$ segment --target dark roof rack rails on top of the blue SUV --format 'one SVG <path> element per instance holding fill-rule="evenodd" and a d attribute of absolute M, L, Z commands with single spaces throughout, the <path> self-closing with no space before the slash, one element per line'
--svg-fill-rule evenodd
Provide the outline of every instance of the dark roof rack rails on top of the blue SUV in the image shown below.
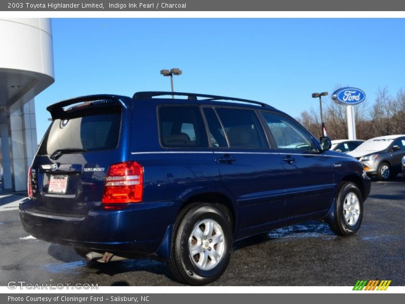
<path fill-rule="evenodd" d="M 217 95 L 207 95 L 207 94 L 197 94 L 197 93 L 182 93 L 182 92 L 137 92 L 132 98 L 134 99 L 151 99 L 155 96 L 164 96 L 164 95 L 176 95 L 176 96 L 187 96 L 188 100 L 198 100 L 198 101 L 220 101 L 220 100 L 232 100 L 232 101 L 241 101 L 261 105 L 263 107 L 271 107 L 270 105 L 249 99 L 241 99 L 234 97 L 225 97 Z M 197 97 L 205 97 L 205 99 L 197 99 Z"/>

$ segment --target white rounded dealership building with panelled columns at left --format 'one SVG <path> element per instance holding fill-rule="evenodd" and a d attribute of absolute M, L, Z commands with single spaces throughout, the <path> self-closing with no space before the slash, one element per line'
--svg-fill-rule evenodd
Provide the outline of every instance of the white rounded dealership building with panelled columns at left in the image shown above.
<path fill-rule="evenodd" d="M 37 148 L 34 97 L 54 82 L 51 20 L 0 18 L 0 188 L 24 191 Z"/>

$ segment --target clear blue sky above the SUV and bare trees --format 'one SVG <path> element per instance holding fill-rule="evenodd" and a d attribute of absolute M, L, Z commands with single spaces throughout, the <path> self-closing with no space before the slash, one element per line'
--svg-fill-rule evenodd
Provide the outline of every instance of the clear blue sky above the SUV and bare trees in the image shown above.
<path fill-rule="evenodd" d="M 404 86 L 405 19 L 53 19 L 55 83 L 35 98 L 38 141 L 46 106 L 88 94 L 170 91 L 254 99 L 299 117 L 311 93 L 339 86 L 396 94 Z M 330 97 L 328 97 L 330 98 Z"/>

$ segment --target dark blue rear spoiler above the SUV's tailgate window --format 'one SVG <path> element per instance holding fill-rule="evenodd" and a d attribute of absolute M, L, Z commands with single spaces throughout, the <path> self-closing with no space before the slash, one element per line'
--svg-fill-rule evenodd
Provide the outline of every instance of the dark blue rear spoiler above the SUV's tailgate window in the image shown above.
<path fill-rule="evenodd" d="M 98 104 L 98 102 L 100 103 L 114 102 L 120 104 L 123 108 L 128 108 L 128 104 L 124 102 L 125 99 L 131 100 L 131 98 L 126 96 L 109 95 L 109 94 L 80 96 L 51 104 L 47 107 L 47 110 L 51 113 L 52 120 L 55 120 L 57 118 L 63 117 L 64 113 L 66 113 L 66 110 L 64 108 L 71 104 L 82 103 L 78 104 L 78 106 L 86 106 L 91 104 Z"/>

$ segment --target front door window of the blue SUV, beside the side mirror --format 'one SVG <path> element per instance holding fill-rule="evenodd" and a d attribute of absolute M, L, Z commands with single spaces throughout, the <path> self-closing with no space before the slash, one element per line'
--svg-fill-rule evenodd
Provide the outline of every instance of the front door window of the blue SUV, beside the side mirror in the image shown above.
<path fill-rule="evenodd" d="M 312 138 L 284 116 L 262 112 L 279 149 L 316 150 Z"/>

